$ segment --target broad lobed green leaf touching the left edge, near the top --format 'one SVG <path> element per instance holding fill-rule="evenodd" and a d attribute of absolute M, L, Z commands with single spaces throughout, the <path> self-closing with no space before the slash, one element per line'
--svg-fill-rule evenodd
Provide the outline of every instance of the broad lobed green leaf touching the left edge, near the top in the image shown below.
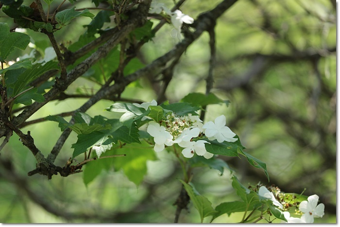
<path fill-rule="evenodd" d="M 0 58 L 5 60 L 15 48 L 25 50 L 30 43 L 30 36 L 18 33 L 9 32 L 7 23 L 0 23 Z"/>

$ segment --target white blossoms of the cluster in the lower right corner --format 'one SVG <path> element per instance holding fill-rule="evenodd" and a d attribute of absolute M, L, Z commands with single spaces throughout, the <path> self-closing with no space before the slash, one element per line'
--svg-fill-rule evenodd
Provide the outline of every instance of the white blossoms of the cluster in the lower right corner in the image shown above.
<path fill-rule="evenodd" d="M 262 197 L 272 200 L 272 204 L 283 210 L 283 206 L 275 199 L 275 196 L 266 187 L 261 186 L 258 190 L 258 194 Z M 324 215 L 324 204 L 318 205 L 319 196 L 311 195 L 307 198 L 307 201 L 302 201 L 299 205 L 299 210 L 303 213 L 301 218 L 290 217 L 288 211 L 284 211 L 283 214 L 287 219 L 287 223 L 313 223 L 314 218 L 321 218 Z"/>

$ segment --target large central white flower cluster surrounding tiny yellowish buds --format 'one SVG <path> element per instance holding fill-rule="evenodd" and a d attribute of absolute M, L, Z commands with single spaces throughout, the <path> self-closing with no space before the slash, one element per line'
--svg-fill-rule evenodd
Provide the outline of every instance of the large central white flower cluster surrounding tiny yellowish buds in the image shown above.
<path fill-rule="evenodd" d="M 153 100 L 149 103 L 134 105 L 147 110 L 149 106 L 157 105 L 157 102 Z M 163 151 L 165 146 L 172 146 L 176 143 L 184 148 L 182 150 L 184 157 L 190 158 L 196 153 L 199 156 L 211 158 L 214 155 L 207 152 L 204 145 L 204 143 L 209 142 L 198 139 L 205 134 L 209 140 L 217 140 L 218 142 L 235 142 L 238 140 L 237 138 L 233 138 L 236 134 L 224 125 L 224 115 L 217 117 L 215 122 L 203 124 L 196 115 L 188 114 L 188 116 L 177 116 L 172 113 L 160 122 L 149 122 L 147 132 L 153 137 L 155 143 L 153 149 L 155 152 Z"/>

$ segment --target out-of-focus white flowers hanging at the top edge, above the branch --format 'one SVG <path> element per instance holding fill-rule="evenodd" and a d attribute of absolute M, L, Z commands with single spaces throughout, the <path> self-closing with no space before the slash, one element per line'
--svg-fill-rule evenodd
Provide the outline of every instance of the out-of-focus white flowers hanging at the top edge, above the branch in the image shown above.
<path fill-rule="evenodd" d="M 178 39 L 181 39 L 181 28 L 183 23 L 192 24 L 194 22 L 194 19 L 183 14 L 180 10 L 175 10 L 174 12 L 171 12 L 171 10 L 166 7 L 164 3 L 158 3 L 156 0 L 153 0 L 150 5 L 151 9 L 149 10 L 149 13 L 151 14 L 160 14 L 162 11 L 170 16 L 171 23 L 174 27 L 174 29 L 171 31 L 172 37 L 178 37 Z"/>

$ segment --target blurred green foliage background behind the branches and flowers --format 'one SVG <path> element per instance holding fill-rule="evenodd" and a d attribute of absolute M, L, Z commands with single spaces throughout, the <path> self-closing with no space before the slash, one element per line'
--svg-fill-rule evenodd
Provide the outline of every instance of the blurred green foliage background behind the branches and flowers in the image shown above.
<path fill-rule="evenodd" d="M 159 0 L 169 7 L 172 0 Z M 214 8 L 219 0 L 187 0 L 183 13 L 197 18 Z M 55 0 L 51 8 L 60 3 Z M 93 7 L 89 0 L 77 1 L 77 8 Z M 96 14 L 97 11 L 91 11 Z M 14 26 L 0 12 L 0 21 Z M 79 18 L 58 31 L 58 42 L 75 42 L 90 18 Z M 157 21 L 154 20 L 154 25 Z M 107 25 L 109 26 L 109 24 Z M 105 25 L 104 25 L 105 27 Z M 138 56 L 148 64 L 168 52 L 177 38 L 170 36 L 167 24 Z M 230 100 L 225 105 L 209 105 L 205 122 L 224 114 L 227 126 L 240 137 L 245 151 L 267 164 L 271 181 L 245 158 L 221 157 L 236 170 L 244 184 L 275 184 L 283 192 L 317 194 L 325 205 L 323 218 L 315 223 L 336 223 L 336 6 L 335 0 L 238 0 L 218 19 L 214 88 L 218 97 Z M 27 33 L 46 40 L 43 34 Z M 34 35 L 35 36 L 34 36 Z M 181 57 L 165 99 L 178 102 L 190 92 L 205 92 L 209 67 L 209 36 L 203 34 Z M 29 53 L 32 49 L 27 48 Z M 17 53 L 22 54 L 22 53 Z M 13 56 L 15 59 L 16 56 Z M 80 87 L 98 89 L 82 77 L 67 93 Z M 160 85 L 152 75 L 132 84 L 123 98 L 150 102 L 157 100 Z M 29 120 L 74 110 L 86 99 L 53 101 Z M 119 114 L 105 112 L 112 101 L 102 100 L 87 114 L 108 118 Z M 69 118 L 66 118 L 69 120 Z M 61 134 L 57 123 L 41 122 L 23 128 L 31 131 L 36 146 L 47 156 Z M 71 133 L 55 164 L 63 166 L 71 157 Z M 2 142 L 2 139 L 1 139 Z M 27 176 L 35 168 L 35 159 L 15 135 L 1 151 L 0 222 L 1 223 L 172 223 L 173 206 L 182 179 L 180 166 L 171 153 L 157 153 L 149 161 L 144 182 L 136 187 L 122 172 L 102 172 L 87 187 L 83 174 L 68 177 Z M 7 166 L 6 166 L 7 165 Z M 6 168 L 5 168 L 6 166 Z M 8 171 L 12 170 L 12 171 Z M 197 168 L 193 183 L 213 207 L 221 201 L 235 200 L 231 175 L 225 170 Z M 306 189 L 306 190 L 305 190 Z M 305 190 L 305 191 L 304 191 Z M 198 212 L 190 204 L 182 211 L 180 223 L 199 223 Z M 235 223 L 243 214 L 226 214 L 214 223 Z M 209 222 L 206 218 L 204 222 Z M 275 222 L 275 221 L 274 221 Z"/>

